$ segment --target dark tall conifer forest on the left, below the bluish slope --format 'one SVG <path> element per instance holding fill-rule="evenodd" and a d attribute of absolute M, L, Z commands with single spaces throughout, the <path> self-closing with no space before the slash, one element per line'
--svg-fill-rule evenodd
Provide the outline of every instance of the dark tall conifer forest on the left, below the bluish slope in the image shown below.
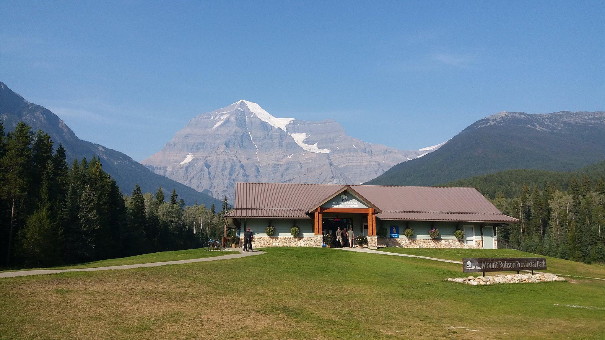
<path fill-rule="evenodd" d="M 62 145 L 24 122 L 0 122 L 0 254 L 7 267 L 47 267 L 201 247 L 221 212 L 187 206 L 173 189 L 123 195 L 96 156 L 67 165 Z"/>

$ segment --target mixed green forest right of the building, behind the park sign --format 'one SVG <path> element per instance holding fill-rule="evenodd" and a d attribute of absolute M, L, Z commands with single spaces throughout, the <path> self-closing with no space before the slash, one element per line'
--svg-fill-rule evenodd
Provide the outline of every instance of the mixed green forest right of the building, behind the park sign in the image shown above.
<path fill-rule="evenodd" d="M 520 220 L 498 227 L 499 240 L 551 257 L 605 263 L 603 177 L 590 178 L 584 174 L 579 180 L 572 176 L 564 185 L 555 182 L 547 178 L 540 189 L 535 183 L 530 187 L 517 178 L 518 190 L 509 193 L 518 191 L 518 194 L 499 191 L 494 197 L 488 195 L 500 211 Z M 473 186 L 472 178 L 466 183 Z"/>

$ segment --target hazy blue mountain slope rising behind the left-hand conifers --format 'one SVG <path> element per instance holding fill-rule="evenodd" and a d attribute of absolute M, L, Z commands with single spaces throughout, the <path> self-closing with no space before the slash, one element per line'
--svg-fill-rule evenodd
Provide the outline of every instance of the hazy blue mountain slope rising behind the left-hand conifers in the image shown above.
<path fill-rule="evenodd" d="M 32 127 L 32 131 L 42 129 L 47 132 L 55 147 L 59 146 L 59 143 L 64 146 L 67 162 L 70 164 L 73 159 L 80 160 L 82 157 L 87 157 L 90 160 L 93 155 L 97 155 L 103 169 L 116 180 L 124 194 L 130 194 L 136 183 L 139 183 L 143 192 L 155 192 L 159 186 L 167 192 L 174 188 L 189 205 L 198 201 L 199 204 L 206 204 L 206 206 L 211 204 L 221 206 L 219 200 L 155 174 L 122 152 L 79 139 L 56 114 L 44 106 L 28 102 L 2 82 L 0 82 L 0 120 L 7 131 L 13 130 L 17 123 L 23 121 Z"/>

